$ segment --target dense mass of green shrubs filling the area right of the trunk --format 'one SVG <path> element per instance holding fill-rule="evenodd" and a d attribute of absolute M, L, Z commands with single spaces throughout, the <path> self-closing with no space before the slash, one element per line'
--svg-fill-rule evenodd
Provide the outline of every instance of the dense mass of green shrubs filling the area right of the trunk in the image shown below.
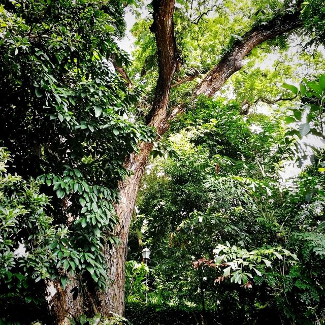
<path fill-rule="evenodd" d="M 204 299 L 228 317 L 237 310 L 233 323 L 269 312 L 301 324 L 320 319 L 323 154 L 282 184 L 284 160 L 296 159 L 299 125 L 282 124 L 291 115 L 242 116 L 222 99 L 196 104 L 172 125 L 177 156 L 156 161 L 138 199 L 129 242 L 152 251 L 151 301 L 191 309 Z"/>

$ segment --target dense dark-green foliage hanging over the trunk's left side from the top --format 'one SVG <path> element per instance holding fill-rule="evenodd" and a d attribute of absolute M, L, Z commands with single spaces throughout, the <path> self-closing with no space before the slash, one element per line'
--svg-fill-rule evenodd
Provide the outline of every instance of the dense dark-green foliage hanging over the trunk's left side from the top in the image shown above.
<path fill-rule="evenodd" d="M 43 182 L 59 225 L 57 238 L 49 239 L 49 261 L 31 274 L 38 280 L 60 274 L 63 287 L 75 271 L 101 288 L 107 284 L 103 245 L 116 243 L 109 234 L 117 221 L 117 182 L 127 176 L 124 159 L 139 141 L 155 137 L 131 122 L 140 91 L 128 90 L 112 68 L 112 59 L 129 64 L 116 44 L 123 11 L 115 0 L 0 6 L 0 114 L 10 171 Z M 36 236 L 33 227 L 26 246 Z"/>

